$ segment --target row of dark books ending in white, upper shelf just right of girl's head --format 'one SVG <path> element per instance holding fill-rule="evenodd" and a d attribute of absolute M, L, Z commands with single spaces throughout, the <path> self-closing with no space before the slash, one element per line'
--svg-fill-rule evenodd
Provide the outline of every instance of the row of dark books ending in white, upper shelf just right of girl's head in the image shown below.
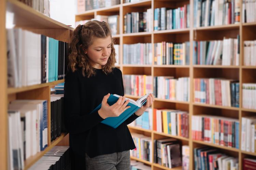
<path fill-rule="evenodd" d="M 124 15 L 124 33 L 151 32 L 152 10 L 131 12 Z"/>

